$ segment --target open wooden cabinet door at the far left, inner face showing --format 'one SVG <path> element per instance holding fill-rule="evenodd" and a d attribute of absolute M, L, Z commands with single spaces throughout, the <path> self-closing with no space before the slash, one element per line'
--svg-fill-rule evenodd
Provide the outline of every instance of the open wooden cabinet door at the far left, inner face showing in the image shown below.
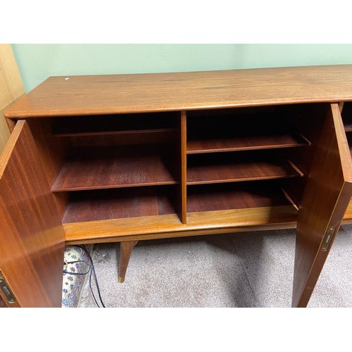
<path fill-rule="evenodd" d="M 61 307 L 64 231 L 25 120 L 0 156 L 0 294 L 7 306 Z"/>

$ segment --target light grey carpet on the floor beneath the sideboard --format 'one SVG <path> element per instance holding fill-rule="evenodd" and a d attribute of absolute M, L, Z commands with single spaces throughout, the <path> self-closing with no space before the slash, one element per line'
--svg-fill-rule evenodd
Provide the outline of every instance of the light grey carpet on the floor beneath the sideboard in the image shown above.
<path fill-rule="evenodd" d="M 118 246 L 95 245 L 92 258 L 106 307 L 285 308 L 291 306 L 295 234 L 139 241 L 123 284 Z M 96 307 L 88 282 L 79 307 Z M 352 225 L 341 227 L 308 307 L 352 307 Z"/>

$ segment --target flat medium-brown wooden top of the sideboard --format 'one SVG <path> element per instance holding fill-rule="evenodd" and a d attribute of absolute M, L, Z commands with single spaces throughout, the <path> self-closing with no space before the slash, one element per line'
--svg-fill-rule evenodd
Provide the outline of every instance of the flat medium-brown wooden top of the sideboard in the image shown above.
<path fill-rule="evenodd" d="M 352 101 L 352 65 L 49 77 L 7 118 Z"/>

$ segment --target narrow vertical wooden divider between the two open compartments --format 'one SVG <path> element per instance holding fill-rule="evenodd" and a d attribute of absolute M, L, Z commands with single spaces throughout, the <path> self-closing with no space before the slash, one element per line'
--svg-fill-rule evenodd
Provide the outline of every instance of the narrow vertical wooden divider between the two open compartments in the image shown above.
<path fill-rule="evenodd" d="M 187 224 L 187 112 L 181 111 L 181 221 Z"/>

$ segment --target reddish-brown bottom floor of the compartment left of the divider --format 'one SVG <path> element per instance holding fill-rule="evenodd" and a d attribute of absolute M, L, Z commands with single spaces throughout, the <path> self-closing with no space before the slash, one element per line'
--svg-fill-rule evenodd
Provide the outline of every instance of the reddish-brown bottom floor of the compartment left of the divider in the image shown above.
<path fill-rule="evenodd" d="M 172 186 L 76 191 L 63 223 L 168 215 L 175 213 L 174 201 Z"/>

